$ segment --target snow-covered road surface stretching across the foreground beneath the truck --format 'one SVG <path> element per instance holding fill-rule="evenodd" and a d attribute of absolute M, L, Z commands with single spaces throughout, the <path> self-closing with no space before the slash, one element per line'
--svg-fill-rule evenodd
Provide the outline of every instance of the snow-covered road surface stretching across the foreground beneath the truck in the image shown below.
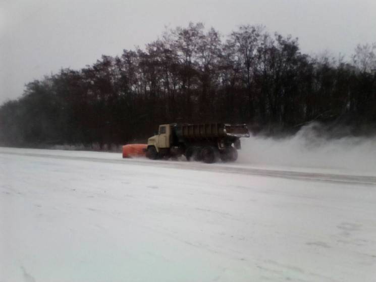
<path fill-rule="evenodd" d="M 0 148 L 0 281 L 375 281 L 375 179 Z"/>

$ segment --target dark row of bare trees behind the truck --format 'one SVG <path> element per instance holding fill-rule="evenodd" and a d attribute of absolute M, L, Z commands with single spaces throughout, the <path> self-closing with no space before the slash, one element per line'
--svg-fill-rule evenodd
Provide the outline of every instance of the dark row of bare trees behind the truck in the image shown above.
<path fill-rule="evenodd" d="M 222 37 L 202 23 L 145 48 L 29 82 L 0 107 L 0 144 L 125 144 L 164 123 L 376 122 L 376 45 L 350 61 L 302 53 L 297 38 L 244 25 Z"/>

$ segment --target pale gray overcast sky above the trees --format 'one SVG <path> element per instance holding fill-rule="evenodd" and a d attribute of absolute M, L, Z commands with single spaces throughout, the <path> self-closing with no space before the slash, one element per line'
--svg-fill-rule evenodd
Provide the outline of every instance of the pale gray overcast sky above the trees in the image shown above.
<path fill-rule="evenodd" d="M 263 24 L 299 37 L 307 53 L 350 55 L 376 42 L 376 0 L 0 0 L 0 104 L 27 82 L 143 47 L 189 21 L 224 35 Z"/>

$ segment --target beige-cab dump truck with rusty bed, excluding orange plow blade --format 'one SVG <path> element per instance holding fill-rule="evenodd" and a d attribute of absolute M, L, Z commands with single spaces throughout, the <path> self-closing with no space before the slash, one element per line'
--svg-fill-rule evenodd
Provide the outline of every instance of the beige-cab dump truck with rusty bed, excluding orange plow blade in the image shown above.
<path fill-rule="evenodd" d="M 213 163 L 219 159 L 235 161 L 241 148 L 240 138 L 249 137 L 245 124 L 166 124 L 147 140 L 150 159 L 185 155 L 188 161 Z"/>

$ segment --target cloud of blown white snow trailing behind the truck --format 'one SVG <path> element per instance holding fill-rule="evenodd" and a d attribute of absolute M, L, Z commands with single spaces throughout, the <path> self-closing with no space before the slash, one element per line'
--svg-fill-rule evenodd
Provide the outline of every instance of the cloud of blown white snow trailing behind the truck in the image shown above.
<path fill-rule="evenodd" d="M 339 132 L 328 134 L 320 125 L 313 123 L 290 137 L 257 135 L 243 139 L 238 162 L 374 173 L 376 137 L 343 137 Z"/>

